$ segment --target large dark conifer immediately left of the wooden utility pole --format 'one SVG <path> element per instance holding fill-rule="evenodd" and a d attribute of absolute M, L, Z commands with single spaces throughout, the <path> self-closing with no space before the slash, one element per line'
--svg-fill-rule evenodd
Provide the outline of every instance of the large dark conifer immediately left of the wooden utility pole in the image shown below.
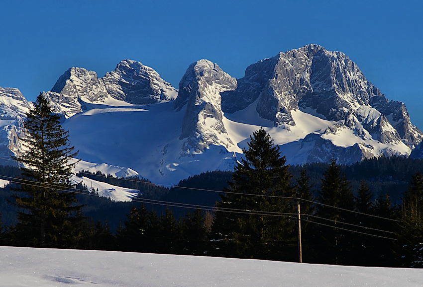
<path fill-rule="evenodd" d="M 225 195 L 216 204 L 212 236 L 221 256 L 297 259 L 295 209 L 285 156 L 264 129 L 250 136 Z M 278 215 L 278 216 L 272 216 Z"/>

